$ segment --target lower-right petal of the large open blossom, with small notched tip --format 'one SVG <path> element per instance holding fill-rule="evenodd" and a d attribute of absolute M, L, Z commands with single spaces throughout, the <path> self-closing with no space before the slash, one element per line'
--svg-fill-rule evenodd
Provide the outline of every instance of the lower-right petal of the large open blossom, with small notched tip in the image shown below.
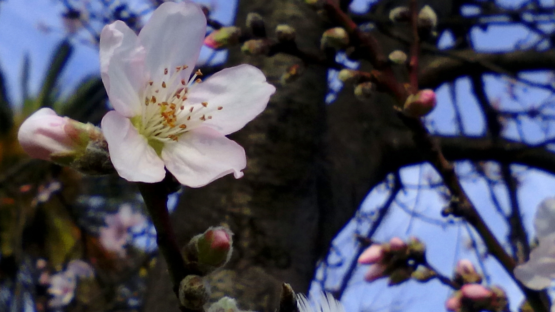
<path fill-rule="evenodd" d="M 196 128 L 185 132 L 177 142 L 162 149 L 166 168 L 179 183 L 202 187 L 226 174 L 243 177 L 245 150 L 214 129 Z"/>

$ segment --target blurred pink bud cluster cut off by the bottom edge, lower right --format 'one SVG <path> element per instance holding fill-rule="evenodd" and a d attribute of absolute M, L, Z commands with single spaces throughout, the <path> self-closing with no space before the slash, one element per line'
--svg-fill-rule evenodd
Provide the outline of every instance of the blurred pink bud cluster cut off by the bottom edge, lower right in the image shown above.
<path fill-rule="evenodd" d="M 501 312 L 507 310 L 507 304 L 507 295 L 497 286 L 465 284 L 447 299 L 445 308 L 452 312 Z"/>

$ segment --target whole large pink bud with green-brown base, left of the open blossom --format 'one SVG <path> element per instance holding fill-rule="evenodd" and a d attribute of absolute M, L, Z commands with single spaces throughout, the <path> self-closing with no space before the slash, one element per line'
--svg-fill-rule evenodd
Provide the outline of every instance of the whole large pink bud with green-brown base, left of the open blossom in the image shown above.
<path fill-rule="evenodd" d="M 88 174 L 114 172 L 100 128 L 41 108 L 19 127 L 19 144 L 29 156 Z"/>

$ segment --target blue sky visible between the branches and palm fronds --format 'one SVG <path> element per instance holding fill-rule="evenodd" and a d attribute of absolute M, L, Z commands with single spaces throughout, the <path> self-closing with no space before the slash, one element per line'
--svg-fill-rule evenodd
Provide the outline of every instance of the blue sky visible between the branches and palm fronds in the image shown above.
<path fill-rule="evenodd" d="M 372 1 L 355 0 L 352 9 L 364 11 Z M 517 7 L 524 1 L 501 1 L 503 6 Z M 541 1 L 542 4 L 554 6 L 554 1 Z M 224 24 L 231 24 L 235 8 L 234 1 L 205 1 L 213 7 L 214 18 Z M 32 2 L 22 2 L 18 0 L 0 1 L 0 67 L 7 78 L 8 92 L 12 103 L 21 103 L 21 90 L 19 89 L 19 79 L 24 54 L 28 53 L 31 59 L 31 93 L 36 94 L 41 79 L 46 70 L 46 66 L 51 58 L 52 49 L 64 38 L 63 24 L 59 18 L 63 12 L 63 7 L 56 0 L 33 0 Z M 546 28 L 552 28 L 553 24 Z M 451 44 L 448 33 L 442 34 L 440 47 L 448 48 Z M 480 28 L 472 29 L 471 36 L 476 49 L 483 52 L 503 52 L 511 51 L 516 43 L 534 42 L 537 37 L 529 33 L 522 27 L 501 27 L 495 26 L 483 31 Z M 210 51 L 205 49 L 203 57 L 208 57 Z M 225 57 L 225 53 L 219 56 Z M 68 67 L 63 73 L 60 85 L 62 90 L 68 92 L 80 79 L 90 74 L 98 74 L 98 51 L 93 44 L 75 44 L 73 57 L 70 59 Z M 528 73 L 528 79 L 549 80 L 552 74 L 549 73 Z M 552 95 L 535 88 L 525 88 L 521 84 L 514 85 L 505 78 L 486 76 L 486 90 L 490 100 L 498 100 L 503 109 L 518 109 L 522 105 L 526 107 L 539 105 L 550 100 Z M 478 109 L 476 100 L 470 96 L 470 82 L 467 78 L 457 79 L 454 83 L 456 99 L 460 105 L 465 107 L 463 114 L 463 124 L 467 134 L 480 135 L 485 127 L 481 112 Z M 516 90 L 517 98 L 513 99 L 508 95 L 508 89 Z M 436 110 L 427 117 L 430 127 L 437 133 L 455 134 L 453 118 L 454 111 L 451 103 L 450 86 L 445 84 L 437 89 L 438 106 Z M 538 142 L 544 138 L 545 132 L 539 128 L 538 122 L 534 120 L 523 120 L 525 140 L 529 143 Z M 548 129 L 547 133 L 553 133 Z M 509 138 L 517 138 L 518 132 L 515 124 L 507 124 L 504 132 Z M 492 172 L 495 172 L 495 165 L 490 165 Z M 519 202 L 523 209 L 523 218 L 529 233 L 533 233 L 532 220 L 537 204 L 542 199 L 553 196 L 555 189 L 555 179 L 548 174 L 537 170 L 524 170 L 522 167 L 513 166 L 519 172 L 521 186 L 518 190 Z M 506 236 L 507 229 L 504 227 L 499 214 L 495 212 L 491 199 L 486 192 L 485 181 L 471 173 L 471 166 L 468 163 L 457 164 L 457 171 L 463 178 L 463 187 L 467 190 L 473 202 L 476 204 L 480 213 L 488 220 L 488 224 L 500 238 Z M 416 165 L 403 168 L 401 172 L 403 183 L 426 184 L 427 180 L 438 180 L 437 174 L 427 164 Z M 499 195 L 504 208 L 508 209 L 506 200 L 506 189 L 498 185 L 495 192 Z M 371 212 L 380 207 L 387 196 L 385 185 L 372 190 L 369 197 L 362 205 L 362 212 Z M 443 220 L 440 217 L 440 210 L 443 207 L 443 200 L 435 190 L 421 190 L 417 195 L 416 190 L 409 189 L 403 192 L 398 201 L 404 203 L 415 212 L 426 215 L 432 220 Z M 443 274 L 451 275 L 453 265 L 457 259 L 462 257 L 475 260 L 473 251 L 465 248 L 466 242 L 470 239 L 467 228 L 461 224 L 445 224 L 445 226 L 430 224 L 416 218 L 411 218 L 396 204 L 392 209 L 386 222 L 382 224 L 376 233 L 377 240 L 387 240 L 392 236 L 407 238 L 410 235 L 417 235 L 428 244 L 428 255 L 430 262 L 436 266 Z M 455 220 L 452 220 L 455 221 Z M 366 227 L 366 228 L 365 228 Z M 365 233 L 367 225 L 352 222 L 345 228 L 336 239 L 337 245 L 354 244 L 353 233 L 359 230 Z M 438 239 L 441 238 L 441 239 Z M 342 249 L 342 257 L 348 258 L 352 254 L 352 249 Z M 337 258 L 337 257 L 336 257 Z M 333 259 L 332 259 L 333 260 Z M 337 259 L 335 259 L 337 260 Z M 511 297 L 511 309 L 516 310 L 522 296 L 516 286 L 503 272 L 495 260 L 491 257 L 484 261 L 487 271 L 492 276 L 493 284 L 501 284 L 508 291 Z M 415 285 L 409 282 L 400 286 L 387 288 L 385 280 L 369 284 L 362 279 L 366 267 L 361 266 L 357 269 L 354 278 L 351 280 L 350 288 L 344 296 L 344 304 L 347 312 L 359 310 L 391 310 L 395 307 L 403 311 L 428 311 L 444 310 L 443 303 L 447 299 L 450 290 L 440 285 L 437 281 L 427 284 Z M 336 276 L 341 269 L 336 270 Z M 337 278 L 330 278 L 329 286 L 333 286 Z M 428 300 L 422 294 L 432 294 L 433 300 Z"/>

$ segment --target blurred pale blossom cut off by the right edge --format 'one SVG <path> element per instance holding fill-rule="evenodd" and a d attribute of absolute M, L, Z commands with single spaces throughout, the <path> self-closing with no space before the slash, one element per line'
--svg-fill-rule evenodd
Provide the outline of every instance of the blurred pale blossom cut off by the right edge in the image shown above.
<path fill-rule="evenodd" d="M 514 269 L 514 276 L 528 288 L 541 290 L 555 279 L 555 198 L 539 204 L 534 219 L 539 245 L 530 253 L 530 259 Z"/>

